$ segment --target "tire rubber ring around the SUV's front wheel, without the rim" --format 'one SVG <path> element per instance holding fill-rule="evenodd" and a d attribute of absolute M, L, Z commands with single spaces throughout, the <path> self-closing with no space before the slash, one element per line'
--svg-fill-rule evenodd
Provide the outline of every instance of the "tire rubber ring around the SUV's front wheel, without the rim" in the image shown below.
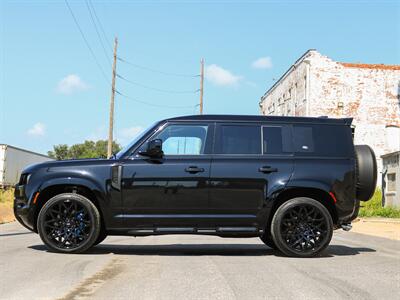
<path fill-rule="evenodd" d="M 53 242 L 51 239 L 47 237 L 47 234 L 45 232 L 44 228 L 44 220 L 47 211 L 57 202 L 62 202 L 65 200 L 73 200 L 79 202 L 81 205 L 83 205 L 86 210 L 88 211 L 90 215 L 90 219 L 92 222 L 92 227 L 90 229 L 89 233 L 89 238 L 84 241 L 81 245 L 79 245 L 76 248 L 73 249 L 64 249 L 64 248 L 59 248 L 53 245 Z M 89 249 L 90 247 L 93 246 L 95 241 L 97 240 L 99 234 L 100 234 L 100 227 L 101 227 L 101 222 L 100 222 L 100 214 L 96 206 L 86 197 L 75 194 L 75 193 L 64 193 L 64 194 L 59 194 L 48 200 L 42 207 L 42 209 L 39 212 L 38 219 L 37 219 L 37 228 L 38 232 L 40 235 L 40 238 L 42 241 L 45 243 L 45 245 L 53 252 L 62 252 L 62 253 L 81 253 Z"/>

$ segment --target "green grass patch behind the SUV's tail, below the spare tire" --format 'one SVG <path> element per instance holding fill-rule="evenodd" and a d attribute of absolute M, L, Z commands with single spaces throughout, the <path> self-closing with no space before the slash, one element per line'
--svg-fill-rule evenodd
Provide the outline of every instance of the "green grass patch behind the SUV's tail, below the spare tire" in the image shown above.
<path fill-rule="evenodd" d="M 400 218 L 400 209 L 382 207 L 382 191 L 377 189 L 371 200 L 361 202 L 359 217 Z"/>

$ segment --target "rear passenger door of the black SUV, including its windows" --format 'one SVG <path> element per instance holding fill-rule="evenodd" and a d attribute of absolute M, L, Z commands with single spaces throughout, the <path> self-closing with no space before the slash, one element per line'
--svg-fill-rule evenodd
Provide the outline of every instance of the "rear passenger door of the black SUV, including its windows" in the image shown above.
<path fill-rule="evenodd" d="M 292 173 L 290 134 L 289 126 L 276 124 L 217 124 L 210 173 L 216 226 L 263 223 L 271 193 L 283 188 Z"/>

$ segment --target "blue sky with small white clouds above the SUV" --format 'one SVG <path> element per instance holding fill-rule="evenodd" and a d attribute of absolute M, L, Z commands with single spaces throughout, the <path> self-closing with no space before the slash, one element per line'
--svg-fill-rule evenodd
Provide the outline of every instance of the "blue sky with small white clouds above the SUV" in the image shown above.
<path fill-rule="evenodd" d="M 69 0 L 106 79 L 64 1 L 1 1 L 0 143 L 47 152 L 54 144 L 106 138 L 111 65 L 86 3 Z M 400 63 L 397 1 L 95 1 L 118 55 L 170 73 L 199 73 L 204 111 L 259 114 L 262 94 L 307 49 L 334 60 Z M 99 29 L 102 36 L 101 29 Z M 163 90 L 195 91 L 198 77 L 166 76 L 118 61 L 117 72 Z M 198 112 L 198 93 L 172 94 L 117 79 L 115 136 L 126 144 L 156 120 Z"/>

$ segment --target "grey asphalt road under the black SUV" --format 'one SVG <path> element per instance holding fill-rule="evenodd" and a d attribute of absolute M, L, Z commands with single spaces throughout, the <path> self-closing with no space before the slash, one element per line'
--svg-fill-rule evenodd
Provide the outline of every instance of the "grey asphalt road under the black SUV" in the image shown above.
<path fill-rule="evenodd" d="M 321 257 L 259 239 L 108 237 L 87 254 L 47 252 L 0 225 L 0 299 L 400 299 L 400 241 L 337 231 Z"/>

